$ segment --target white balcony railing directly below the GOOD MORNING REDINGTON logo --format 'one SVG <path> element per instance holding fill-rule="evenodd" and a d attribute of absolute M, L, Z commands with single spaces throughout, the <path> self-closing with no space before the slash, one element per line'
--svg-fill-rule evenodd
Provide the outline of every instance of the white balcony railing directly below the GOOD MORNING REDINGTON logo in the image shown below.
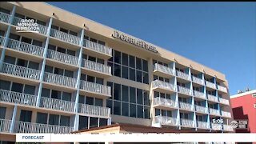
<path fill-rule="evenodd" d="M 14 39 L 9 39 L 7 47 L 13 50 L 22 51 L 28 54 L 34 54 L 42 57 L 43 54 L 43 47 L 34 46 L 26 42 L 20 42 Z"/>

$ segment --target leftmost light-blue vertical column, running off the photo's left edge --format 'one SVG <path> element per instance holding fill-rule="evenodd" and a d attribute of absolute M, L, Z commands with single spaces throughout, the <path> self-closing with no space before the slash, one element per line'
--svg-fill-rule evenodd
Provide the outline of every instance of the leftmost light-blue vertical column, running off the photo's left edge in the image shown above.
<path fill-rule="evenodd" d="M 10 23 L 13 23 L 13 22 L 14 22 L 14 14 L 15 14 L 15 11 L 16 11 L 16 6 L 14 6 L 14 7 L 13 7 L 13 10 L 11 11 L 11 14 L 10 14 Z M 4 44 L 3 44 L 2 54 L 1 54 L 1 58 L 0 58 L 0 71 L 2 71 L 2 64 L 3 64 L 3 61 L 4 61 L 5 56 L 6 56 L 6 47 L 7 47 L 7 44 L 8 44 L 9 37 L 10 37 L 10 29 L 11 29 L 11 26 L 9 25 L 9 26 L 7 27 L 7 30 L 6 30 L 5 42 L 4 42 Z"/>

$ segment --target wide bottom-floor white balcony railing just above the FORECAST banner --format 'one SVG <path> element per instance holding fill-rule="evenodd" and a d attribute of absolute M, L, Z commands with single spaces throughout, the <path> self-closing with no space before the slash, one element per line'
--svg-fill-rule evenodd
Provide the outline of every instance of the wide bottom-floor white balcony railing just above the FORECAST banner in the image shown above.
<path fill-rule="evenodd" d="M 32 122 L 15 122 L 14 133 L 54 133 L 69 134 L 73 130 L 70 126 L 55 126 Z"/>

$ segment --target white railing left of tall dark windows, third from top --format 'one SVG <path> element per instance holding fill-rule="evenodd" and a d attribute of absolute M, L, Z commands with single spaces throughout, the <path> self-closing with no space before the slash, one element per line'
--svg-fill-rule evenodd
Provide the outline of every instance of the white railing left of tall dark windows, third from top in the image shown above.
<path fill-rule="evenodd" d="M 110 86 L 105 86 L 94 82 L 81 81 L 80 89 L 96 94 L 111 95 Z"/>

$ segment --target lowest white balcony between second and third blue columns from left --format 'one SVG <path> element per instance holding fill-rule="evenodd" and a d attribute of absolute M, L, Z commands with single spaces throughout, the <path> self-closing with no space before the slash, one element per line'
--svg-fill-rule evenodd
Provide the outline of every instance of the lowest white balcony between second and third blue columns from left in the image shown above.
<path fill-rule="evenodd" d="M 40 107 L 51 110 L 74 112 L 74 102 L 64 101 L 55 98 L 42 97 Z"/>

